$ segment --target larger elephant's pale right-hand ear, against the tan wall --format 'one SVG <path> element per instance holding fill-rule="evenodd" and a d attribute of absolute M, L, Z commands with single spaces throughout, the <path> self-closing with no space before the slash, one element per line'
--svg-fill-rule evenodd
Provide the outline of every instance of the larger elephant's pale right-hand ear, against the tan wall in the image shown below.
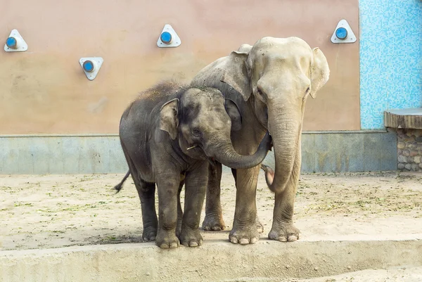
<path fill-rule="evenodd" d="M 314 60 L 311 68 L 311 96 L 316 97 L 316 91 L 321 89 L 330 77 L 330 68 L 324 53 L 318 47 L 312 49 Z"/>

